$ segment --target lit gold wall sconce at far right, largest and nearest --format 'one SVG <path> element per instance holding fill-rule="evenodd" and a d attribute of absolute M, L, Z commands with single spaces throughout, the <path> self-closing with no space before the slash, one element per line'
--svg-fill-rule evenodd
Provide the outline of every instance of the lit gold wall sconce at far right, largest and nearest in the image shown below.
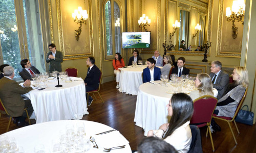
<path fill-rule="evenodd" d="M 238 36 L 238 28 L 234 25 L 234 21 L 242 22 L 244 24 L 244 0 L 233 1 L 232 12 L 230 7 L 226 8 L 226 19 L 232 22 L 232 37 L 236 39 Z"/>

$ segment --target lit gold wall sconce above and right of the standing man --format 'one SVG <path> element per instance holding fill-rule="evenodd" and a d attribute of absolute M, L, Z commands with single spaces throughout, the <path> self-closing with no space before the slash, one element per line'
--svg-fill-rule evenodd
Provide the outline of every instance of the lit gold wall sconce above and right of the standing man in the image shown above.
<path fill-rule="evenodd" d="M 78 10 L 72 13 L 72 17 L 74 18 L 74 22 L 80 24 L 80 27 L 75 30 L 76 40 L 78 41 L 82 32 L 82 23 L 86 24 L 86 20 L 88 19 L 87 10 L 82 10 L 82 7 L 78 7 Z"/>

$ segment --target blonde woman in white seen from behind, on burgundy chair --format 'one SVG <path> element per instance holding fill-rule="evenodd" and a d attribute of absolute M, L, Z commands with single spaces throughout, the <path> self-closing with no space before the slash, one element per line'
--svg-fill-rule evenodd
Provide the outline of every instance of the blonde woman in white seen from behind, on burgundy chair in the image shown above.
<path fill-rule="evenodd" d="M 194 90 L 189 94 L 192 100 L 195 100 L 196 98 L 199 98 L 204 95 L 211 95 L 217 97 L 218 91 L 217 89 L 212 87 L 210 75 L 206 73 L 197 74 L 195 84 L 197 90 Z"/>

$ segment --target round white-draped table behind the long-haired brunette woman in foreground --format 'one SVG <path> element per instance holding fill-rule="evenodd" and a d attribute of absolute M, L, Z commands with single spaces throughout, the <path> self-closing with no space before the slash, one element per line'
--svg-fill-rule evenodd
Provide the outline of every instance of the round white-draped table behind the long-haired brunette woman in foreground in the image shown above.
<path fill-rule="evenodd" d="M 161 81 L 155 81 L 155 83 L 161 84 Z M 167 84 L 167 86 L 160 84 L 148 82 L 139 87 L 134 122 L 143 128 L 145 136 L 148 131 L 159 129 L 160 125 L 168 122 L 166 105 L 173 93 L 181 90 L 171 84 Z"/>

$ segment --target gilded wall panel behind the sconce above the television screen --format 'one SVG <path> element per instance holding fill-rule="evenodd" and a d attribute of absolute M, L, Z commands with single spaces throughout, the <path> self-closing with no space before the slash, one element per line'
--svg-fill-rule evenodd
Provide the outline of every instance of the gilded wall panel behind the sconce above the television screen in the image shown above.
<path fill-rule="evenodd" d="M 152 31 L 151 33 L 151 47 L 150 48 L 142 48 L 140 54 L 152 54 L 155 50 L 160 51 L 160 26 L 161 26 L 161 0 L 150 1 L 154 4 L 146 3 L 146 1 L 140 1 L 140 16 L 146 14 L 149 19 L 151 19 L 150 27 L 146 27 L 148 31 Z M 155 10 L 155 12 L 153 12 Z M 154 22 L 154 20 L 156 22 Z M 138 22 L 137 22 L 138 24 Z M 142 29 L 140 28 L 140 31 Z M 157 31 L 157 33 L 155 33 Z"/>

